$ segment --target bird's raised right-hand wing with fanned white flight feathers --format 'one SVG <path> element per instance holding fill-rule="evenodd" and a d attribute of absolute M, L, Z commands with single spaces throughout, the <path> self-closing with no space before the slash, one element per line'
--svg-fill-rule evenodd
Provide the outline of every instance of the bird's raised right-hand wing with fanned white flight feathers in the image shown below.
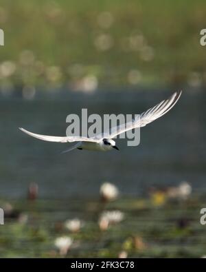
<path fill-rule="evenodd" d="M 130 129 L 135 129 L 137 127 L 144 127 L 148 123 L 155 121 L 157 118 L 163 116 L 169 112 L 172 107 L 176 104 L 181 96 L 182 91 L 175 92 L 170 96 L 170 98 L 161 101 L 155 107 L 151 107 L 146 112 L 139 114 L 133 121 L 119 125 L 117 127 L 112 127 L 109 132 L 104 133 L 103 138 L 115 138 L 115 136 L 127 132 Z"/>

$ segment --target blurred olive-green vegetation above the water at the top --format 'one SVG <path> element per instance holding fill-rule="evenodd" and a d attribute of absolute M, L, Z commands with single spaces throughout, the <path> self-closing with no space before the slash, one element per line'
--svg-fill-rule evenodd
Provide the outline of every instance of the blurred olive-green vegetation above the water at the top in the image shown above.
<path fill-rule="evenodd" d="M 205 9 L 204 0 L 1 0 L 0 61 L 10 61 L 1 85 L 204 84 Z"/>

